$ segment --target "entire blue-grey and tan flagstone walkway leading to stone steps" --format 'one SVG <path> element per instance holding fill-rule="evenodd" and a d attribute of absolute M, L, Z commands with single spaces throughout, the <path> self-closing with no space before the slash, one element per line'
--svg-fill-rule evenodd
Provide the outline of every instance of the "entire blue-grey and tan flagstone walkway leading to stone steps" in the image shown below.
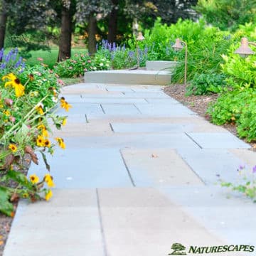
<path fill-rule="evenodd" d="M 161 256 L 176 242 L 187 253 L 256 247 L 255 205 L 216 184 L 255 165 L 249 145 L 160 86 L 87 83 L 62 93 L 73 108 L 54 130 L 67 149 L 49 158 L 53 198 L 19 203 L 4 256 Z M 46 174 L 42 161 L 33 173 Z"/>

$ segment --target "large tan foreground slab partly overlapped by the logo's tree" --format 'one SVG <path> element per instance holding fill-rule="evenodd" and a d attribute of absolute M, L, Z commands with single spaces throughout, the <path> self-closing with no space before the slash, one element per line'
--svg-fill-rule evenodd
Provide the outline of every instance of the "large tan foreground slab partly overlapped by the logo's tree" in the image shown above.
<path fill-rule="evenodd" d="M 100 189 L 99 198 L 107 255 L 168 255 L 174 242 L 224 244 L 155 188 Z"/>

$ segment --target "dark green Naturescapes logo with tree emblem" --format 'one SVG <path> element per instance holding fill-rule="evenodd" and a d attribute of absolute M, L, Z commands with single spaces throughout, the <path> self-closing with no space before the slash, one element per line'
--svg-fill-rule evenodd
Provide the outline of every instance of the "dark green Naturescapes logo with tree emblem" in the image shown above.
<path fill-rule="evenodd" d="M 171 245 L 173 252 L 169 255 L 187 255 L 191 254 L 202 254 L 202 253 L 215 253 L 215 252 L 254 252 L 255 246 L 253 245 L 218 245 L 209 247 L 198 247 L 191 245 L 186 251 L 186 247 L 176 242 Z"/>

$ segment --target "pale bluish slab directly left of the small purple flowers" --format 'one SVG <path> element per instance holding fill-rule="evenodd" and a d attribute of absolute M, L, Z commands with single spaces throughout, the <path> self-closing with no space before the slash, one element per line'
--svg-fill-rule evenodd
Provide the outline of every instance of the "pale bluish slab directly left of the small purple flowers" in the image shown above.
<path fill-rule="evenodd" d="M 207 184 L 235 182 L 242 161 L 226 149 L 178 149 L 182 159 Z"/>

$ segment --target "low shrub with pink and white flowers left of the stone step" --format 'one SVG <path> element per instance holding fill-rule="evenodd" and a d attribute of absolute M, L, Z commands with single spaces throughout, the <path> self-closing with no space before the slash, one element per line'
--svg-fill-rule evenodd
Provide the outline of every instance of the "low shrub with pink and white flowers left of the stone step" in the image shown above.
<path fill-rule="evenodd" d="M 86 71 L 108 69 L 110 69 L 110 60 L 105 56 L 95 55 L 95 58 L 91 58 L 87 53 L 76 53 L 74 57 L 58 63 L 54 72 L 63 78 L 76 78 Z"/>

